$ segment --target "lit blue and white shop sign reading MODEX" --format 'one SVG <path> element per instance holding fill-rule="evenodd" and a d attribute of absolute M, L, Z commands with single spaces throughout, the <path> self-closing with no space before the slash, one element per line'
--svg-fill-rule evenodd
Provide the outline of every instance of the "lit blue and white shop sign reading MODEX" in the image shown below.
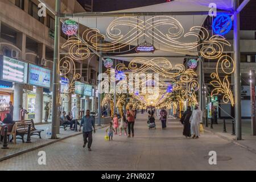
<path fill-rule="evenodd" d="M 51 70 L 30 64 L 28 84 L 50 88 Z"/>

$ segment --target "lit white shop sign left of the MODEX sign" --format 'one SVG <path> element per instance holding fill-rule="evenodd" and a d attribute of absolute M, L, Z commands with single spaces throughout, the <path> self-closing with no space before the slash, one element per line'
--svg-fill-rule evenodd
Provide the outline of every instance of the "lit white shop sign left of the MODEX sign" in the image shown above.
<path fill-rule="evenodd" d="M 27 63 L 10 57 L 0 56 L 0 65 L 0 78 L 2 80 L 27 83 Z"/>

